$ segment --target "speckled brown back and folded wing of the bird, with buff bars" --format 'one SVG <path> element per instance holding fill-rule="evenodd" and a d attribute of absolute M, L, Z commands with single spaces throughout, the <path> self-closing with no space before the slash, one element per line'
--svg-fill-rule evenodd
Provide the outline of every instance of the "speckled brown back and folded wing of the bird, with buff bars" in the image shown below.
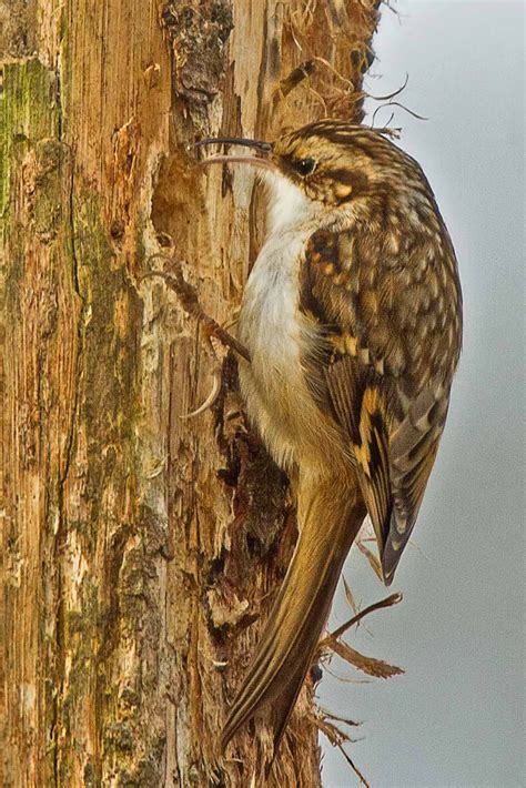
<path fill-rule="evenodd" d="M 325 380 L 320 405 L 348 435 L 393 579 L 444 428 L 462 333 L 456 262 L 445 229 L 392 234 L 315 233 L 306 249 L 302 309 L 323 327 L 310 360 Z"/>

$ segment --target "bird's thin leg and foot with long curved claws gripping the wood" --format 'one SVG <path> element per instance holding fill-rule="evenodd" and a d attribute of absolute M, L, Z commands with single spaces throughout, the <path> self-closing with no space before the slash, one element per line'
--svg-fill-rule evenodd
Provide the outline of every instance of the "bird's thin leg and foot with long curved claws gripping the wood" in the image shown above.
<path fill-rule="evenodd" d="M 204 413 L 209 407 L 212 407 L 214 402 L 218 398 L 218 395 L 221 391 L 221 370 L 222 370 L 222 362 L 218 357 L 218 353 L 215 352 L 215 347 L 213 344 L 213 341 L 216 340 L 219 341 L 222 345 L 225 347 L 229 347 L 230 350 L 233 350 L 235 353 L 241 355 L 245 361 L 250 363 L 251 357 L 250 353 L 246 350 L 246 347 L 239 342 L 239 340 L 235 339 L 235 336 L 232 336 L 232 334 L 229 334 L 225 327 L 220 325 L 213 317 L 210 317 L 204 310 L 202 309 L 201 304 L 199 303 L 198 294 L 195 292 L 195 287 L 193 287 L 189 282 L 183 276 L 183 272 L 181 270 L 181 263 L 173 257 L 170 257 L 166 254 L 158 253 L 158 254 L 152 254 L 149 259 L 148 262 L 150 263 L 152 260 L 164 260 L 168 261 L 171 265 L 171 273 L 166 273 L 165 271 L 146 271 L 141 275 L 140 279 L 148 279 L 148 277 L 160 277 L 164 280 L 166 285 L 172 290 L 179 297 L 179 301 L 181 303 L 181 306 L 183 310 L 186 312 L 186 314 L 191 315 L 192 317 L 195 317 L 198 320 L 204 332 L 204 340 L 205 343 L 209 347 L 209 350 L 212 353 L 212 356 L 214 358 L 214 370 L 213 370 L 213 386 L 212 391 L 210 392 L 209 396 L 206 400 L 203 402 L 202 405 L 198 407 L 196 411 L 192 411 L 192 413 L 183 414 L 181 418 L 192 418 L 193 416 L 198 416 L 201 413 Z M 237 321 L 230 321 L 226 325 L 227 327 L 234 325 Z"/>

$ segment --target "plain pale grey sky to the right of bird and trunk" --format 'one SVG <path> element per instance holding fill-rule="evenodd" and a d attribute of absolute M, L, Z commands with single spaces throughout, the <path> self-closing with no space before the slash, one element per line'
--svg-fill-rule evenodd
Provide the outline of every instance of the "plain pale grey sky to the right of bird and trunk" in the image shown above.
<path fill-rule="evenodd" d="M 523 2 L 401 0 L 383 10 L 373 94 L 407 88 L 399 144 L 423 165 L 453 236 L 465 337 L 446 434 L 393 590 L 350 643 L 405 668 L 388 683 L 327 676 L 321 703 L 363 721 L 350 754 L 372 788 L 515 788 L 524 768 Z M 377 104 L 371 103 L 373 109 Z M 376 125 L 390 111 L 378 113 Z M 345 577 L 385 595 L 365 560 Z M 332 624 L 348 617 L 338 594 Z M 362 679 L 333 659 L 340 677 Z M 354 786 L 325 748 L 325 788 Z"/>

